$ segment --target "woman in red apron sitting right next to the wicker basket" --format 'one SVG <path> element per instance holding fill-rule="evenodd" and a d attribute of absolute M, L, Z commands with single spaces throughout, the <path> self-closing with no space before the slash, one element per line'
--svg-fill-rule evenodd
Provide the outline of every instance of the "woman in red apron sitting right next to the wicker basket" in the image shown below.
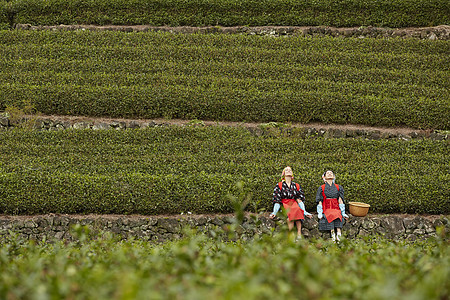
<path fill-rule="evenodd" d="M 345 214 L 344 189 L 334 183 L 332 171 L 323 173 L 322 179 L 325 183 L 316 194 L 319 230 L 330 231 L 333 241 L 340 241 L 344 219 L 348 218 Z"/>

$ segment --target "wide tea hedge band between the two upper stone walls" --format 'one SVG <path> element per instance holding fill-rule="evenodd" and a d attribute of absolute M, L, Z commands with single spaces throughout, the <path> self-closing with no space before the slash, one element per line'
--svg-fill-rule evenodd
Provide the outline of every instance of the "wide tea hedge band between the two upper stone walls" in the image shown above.
<path fill-rule="evenodd" d="M 0 32 L 0 110 L 450 128 L 449 41 Z"/>

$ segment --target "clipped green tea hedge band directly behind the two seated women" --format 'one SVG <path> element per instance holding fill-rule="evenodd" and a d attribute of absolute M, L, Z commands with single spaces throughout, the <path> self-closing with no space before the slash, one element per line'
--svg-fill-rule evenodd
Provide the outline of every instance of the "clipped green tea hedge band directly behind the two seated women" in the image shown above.
<path fill-rule="evenodd" d="M 315 211 L 333 169 L 345 200 L 378 213 L 450 213 L 448 141 L 301 139 L 230 127 L 0 132 L 0 213 L 229 213 L 237 182 L 249 211 L 272 208 L 290 165 Z"/>

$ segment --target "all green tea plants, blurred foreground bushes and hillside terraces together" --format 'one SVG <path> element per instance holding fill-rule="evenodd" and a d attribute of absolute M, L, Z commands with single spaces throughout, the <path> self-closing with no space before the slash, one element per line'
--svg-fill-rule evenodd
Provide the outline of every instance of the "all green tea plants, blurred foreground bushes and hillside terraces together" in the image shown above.
<path fill-rule="evenodd" d="M 369 203 L 370 213 L 448 222 L 448 39 L 13 28 L 387 28 L 449 18 L 443 0 L 0 0 L 0 214 L 222 214 L 244 199 L 247 212 L 267 214 L 289 165 L 311 212 L 332 169 L 346 202 Z M 192 122 L 37 130 L 39 115 Z M 258 130 L 219 125 L 227 121 Z M 424 135 L 311 136 L 291 126 L 298 123 Z M 428 138 L 436 132 L 444 138 Z M 244 241 L 239 221 L 227 238 L 219 227 L 186 229 L 158 243 L 77 225 L 74 240 L 34 241 L 2 222 L 0 299 L 450 297 L 444 221 L 426 240 L 350 240 L 344 232 L 338 244 L 294 243 L 285 229 Z"/>

